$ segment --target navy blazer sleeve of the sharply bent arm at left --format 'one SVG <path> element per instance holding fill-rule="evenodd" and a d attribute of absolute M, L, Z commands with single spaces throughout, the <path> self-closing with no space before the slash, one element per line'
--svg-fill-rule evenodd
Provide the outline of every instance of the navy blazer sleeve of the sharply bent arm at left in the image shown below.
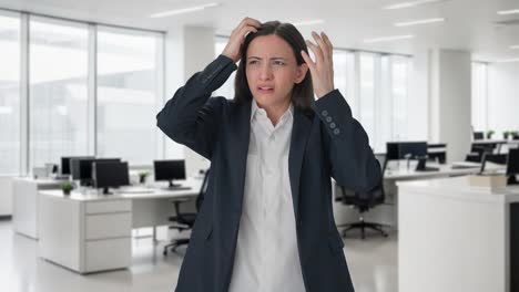
<path fill-rule="evenodd" d="M 227 100 L 211 97 L 222 86 L 236 64 L 218 55 L 203 71 L 180 87 L 156 115 L 156 125 L 171 139 L 211 159 Z"/>

